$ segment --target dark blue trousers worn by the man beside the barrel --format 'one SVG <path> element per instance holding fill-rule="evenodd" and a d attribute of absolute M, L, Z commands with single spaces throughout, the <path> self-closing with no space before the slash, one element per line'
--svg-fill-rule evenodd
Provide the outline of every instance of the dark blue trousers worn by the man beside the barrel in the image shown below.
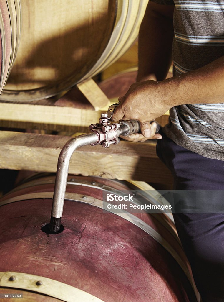
<path fill-rule="evenodd" d="M 158 140 L 156 151 L 174 176 L 174 189 L 212 190 L 207 192 L 210 203 L 214 203 L 214 213 L 173 216 L 202 301 L 223 302 L 224 212 L 218 213 L 215 204 L 224 205 L 222 191 L 217 191 L 224 190 L 224 161 L 200 156 L 161 134 L 163 138 Z M 203 198 L 199 198 L 200 202 Z"/>

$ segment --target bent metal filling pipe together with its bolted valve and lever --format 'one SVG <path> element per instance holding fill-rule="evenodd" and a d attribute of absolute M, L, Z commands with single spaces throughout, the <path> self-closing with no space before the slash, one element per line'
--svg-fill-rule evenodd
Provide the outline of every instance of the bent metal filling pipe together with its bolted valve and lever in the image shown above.
<path fill-rule="evenodd" d="M 111 105 L 106 114 L 101 114 L 99 123 L 90 125 L 89 133 L 74 137 L 63 146 L 58 157 L 49 233 L 55 234 L 60 230 L 69 162 L 74 151 L 78 147 L 86 145 L 101 144 L 103 147 L 109 147 L 110 144 L 119 143 L 118 137 L 120 135 L 139 132 L 140 124 L 137 120 L 120 121 L 119 124 L 111 124 L 110 119 L 118 104 Z"/>

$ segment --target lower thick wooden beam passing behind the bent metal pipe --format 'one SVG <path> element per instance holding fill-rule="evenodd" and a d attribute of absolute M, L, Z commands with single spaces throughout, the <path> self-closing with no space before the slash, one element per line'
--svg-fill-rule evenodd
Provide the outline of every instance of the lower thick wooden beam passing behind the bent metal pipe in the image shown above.
<path fill-rule="evenodd" d="M 69 139 L 70 137 L 54 135 L 0 131 L 0 169 L 55 172 L 60 150 Z M 121 141 L 110 148 L 80 147 L 71 158 L 69 172 L 159 184 L 172 182 L 171 173 L 156 156 L 154 141 Z"/>

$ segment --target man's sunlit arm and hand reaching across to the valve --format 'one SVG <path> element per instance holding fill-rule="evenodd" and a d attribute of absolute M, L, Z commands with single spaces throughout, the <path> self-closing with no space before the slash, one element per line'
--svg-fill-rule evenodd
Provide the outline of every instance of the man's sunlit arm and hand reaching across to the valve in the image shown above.
<path fill-rule="evenodd" d="M 199 69 L 160 82 L 131 85 L 113 119 L 153 120 L 181 104 L 224 102 L 224 56 Z"/>

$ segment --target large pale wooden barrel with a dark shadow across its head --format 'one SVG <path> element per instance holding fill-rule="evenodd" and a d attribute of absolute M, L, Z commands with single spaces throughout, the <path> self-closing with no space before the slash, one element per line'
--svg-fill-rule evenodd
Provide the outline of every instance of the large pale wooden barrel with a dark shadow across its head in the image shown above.
<path fill-rule="evenodd" d="M 134 42 L 147 0 L 22 0 L 21 41 L 6 101 L 67 91 L 118 59 Z"/>

